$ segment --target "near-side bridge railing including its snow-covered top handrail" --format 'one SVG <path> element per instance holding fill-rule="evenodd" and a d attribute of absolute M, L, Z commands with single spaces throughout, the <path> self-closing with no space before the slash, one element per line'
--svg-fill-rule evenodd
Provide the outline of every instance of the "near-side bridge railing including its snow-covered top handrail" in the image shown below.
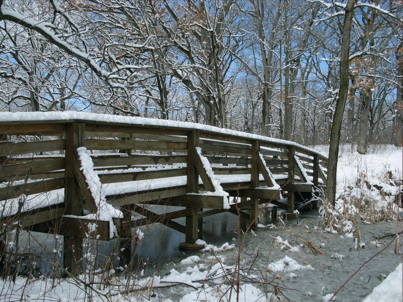
<path fill-rule="evenodd" d="M 74 134 L 70 140 L 66 139 L 69 136 L 69 127 L 73 124 L 83 125 L 85 131 L 80 134 L 82 137 L 73 137 L 76 135 Z M 0 137 L 2 137 L 0 180 L 3 182 L 0 185 L 0 200 L 18 197 L 21 194 L 37 194 L 60 189 L 66 185 L 68 176 L 65 173 L 68 172 L 65 170 L 67 169 L 65 157 L 67 158 L 68 155 L 64 157 L 55 154 L 51 156 L 38 154 L 52 152 L 67 154 L 66 148 L 74 144 L 85 145 L 89 150 L 120 151 L 120 155 L 114 156 L 108 153 L 103 159 L 101 154 L 94 154 L 94 169 L 98 170 L 105 166 L 132 165 L 130 161 L 133 159 L 136 159 L 139 164 L 144 163 L 149 166 L 153 161 L 156 164 L 184 164 L 189 154 L 188 135 L 191 132 L 197 132 L 195 145 L 202 147 L 203 153 L 207 159 L 211 160 L 213 169 L 217 173 L 250 173 L 251 168 L 247 168 L 253 161 L 250 152 L 252 146 L 258 144 L 257 150 L 265 164 L 271 167 L 273 174 L 283 175 L 284 182 L 295 179 L 295 170 L 301 181 L 307 177 L 313 177 L 315 184 L 318 183 L 318 179 L 325 183 L 327 158 L 314 149 L 286 140 L 201 124 L 138 117 L 83 112 L 0 113 Z M 41 135 L 48 136 L 47 138 L 53 137 L 53 139 L 37 141 L 36 137 L 34 141 L 21 141 L 18 139 L 20 135 L 33 138 Z M 122 158 L 121 153 L 130 153 L 133 149 L 143 149 L 143 154 Z M 150 152 L 144 154 L 147 150 L 168 155 L 153 155 Z M 32 158 L 31 161 L 27 161 L 27 156 L 23 156 L 27 154 L 29 154 L 28 158 Z M 294 154 L 298 155 L 297 159 L 293 158 Z M 140 158 L 142 159 L 139 160 Z M 223 164 L 228 167 L 222 167 Z M 231 165 L 237 165 L 237 169 L 231 168 Z M 246 168 L 242 170 L 239 166 L 246 166 Z M 306 169 L 308 171 L 305 171 Z M 130 177 L 133 180 L 146 180 L 155 177 L 184 176 L 187 172 L 186 169 L 178 169 L 169 173 L 159 173 L 159 176 L 157 173 L 153 175 L 136 171 L 130 173 L 126 170 L 121 173 L 120 178 L 114 179 L 106 175 L 100 177 L 105 179 L 105 182 L 117 182 L 118 180 L 127 181 Z M 28 175 L 30 181 L 24 182 Z"/>

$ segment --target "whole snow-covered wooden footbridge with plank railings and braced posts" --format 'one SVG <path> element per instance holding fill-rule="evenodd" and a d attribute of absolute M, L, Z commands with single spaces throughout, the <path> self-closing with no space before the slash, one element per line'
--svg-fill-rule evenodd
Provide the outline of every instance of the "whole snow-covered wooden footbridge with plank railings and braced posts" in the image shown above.
<path fill-rule="evenodd" d="M 229 211 L 256 226 L 259 204 L 283 200 L 293 212 L 296 192 L 326 184 L 327 159 L 315 150 L 206 125 L 0 113 L 0 137 L 2 223 L 63 235 L 72 272 L 88 234 L 130 248 L 133 227 L 159 222 L 191 246 L 203 217 Z M 185 225 L 174 220 L 181 217 Z"/>

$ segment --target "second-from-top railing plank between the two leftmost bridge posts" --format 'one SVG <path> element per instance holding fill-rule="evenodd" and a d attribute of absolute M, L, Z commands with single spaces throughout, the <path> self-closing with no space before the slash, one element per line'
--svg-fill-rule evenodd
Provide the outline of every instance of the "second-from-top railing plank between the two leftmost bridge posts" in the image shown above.
<path fill-rule="evenodd" d="M 116 140 L 116 139 L 87 139 L 86 147 L 89 150 L 148 150 L 184 152 L 187 144 L 184 142 L 164 142 L 145 140 Z"/>

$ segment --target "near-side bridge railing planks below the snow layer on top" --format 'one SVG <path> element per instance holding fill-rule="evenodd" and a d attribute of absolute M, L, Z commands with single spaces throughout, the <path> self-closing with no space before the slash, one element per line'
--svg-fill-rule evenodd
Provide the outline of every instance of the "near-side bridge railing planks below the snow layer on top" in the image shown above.
<path fill-rule="evenodd" d="M 73 133 L 77 137 L 69 142 L 66 132 L 75 123 L 82 125 L 83 133 Z M 299 183 L 326 184 L 327 159 L 314 150 L 261 136 L 243 137 L 239 132 L 234 135 L 210 129 L 91 120 L 5 122 L 1 127 L 0 200 L 63 188 L 68 144 L 84 145 L 89 150 L 103 184 L 186 176 L 188 133 L 194 131 L 198 135 L 195 145 L 201 148 L 215 174 L 250 175 L 256 168 L 251 163 L 252 145 L 257 143 L 265 166 L 284 191 L 297 191 Z"/>

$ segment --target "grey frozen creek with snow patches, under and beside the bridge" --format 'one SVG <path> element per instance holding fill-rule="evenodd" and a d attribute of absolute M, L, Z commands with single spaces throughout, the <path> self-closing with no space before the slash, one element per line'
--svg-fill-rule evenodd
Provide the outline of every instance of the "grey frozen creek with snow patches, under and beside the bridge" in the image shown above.
<path fill-rule="evenodd" d="M 330 234 L 318 231 L 316 228 L 318 218 L 318 211 L 304 211 L 298 219 L 299 225 L 294 218 L 288 220 L 286 226 L 281 226 L 279 221 L 276 221 L 272 228 L 254 230 L 253 233 L 248 232 L 240 253 L 242 271 L 246 276 L 240 278 L 240 283 L 253 285 L 262 292 L 274 292 L 273 286 L 265 287 L 248 279 L 248 276 L 255 275 L 267 280 L 270 284 L 279 286 L 281 291 L 278 292 L 278 295 L 281 297 L 281 301 L 328 301 L 331 296 L 330 293 L 338 290 L 366 260 L 378 253 L 392 240 L 392 237 L 385 237 L 378 240 L 377 245 L 375 245 L 371 243 L 375 243 L 374 237 L 396 233 L 396 222 L 383 221 L 375 224 L 359 222 L 358 230 L 360 231 L 361 243 L 365 243 L 365 247 L 356 250 L 352 234 Z M 272 223 L 270 217 L 260 217 L 259 221 L 269 225 Z M 237 216 L 230 213 L 205 218 L 205 223 L 199 226 L 200 231 L 202 231 L 200 233 L 201 239 L 218 248 L 225 243 L 228 243 L 227 246 L 235 246 L 231 250 L 214 253 L 181 251 L 178 246 L 184 241 L 183 234 L 161 224 L 144 226 L 142 228 L 144 238 L 136 248 L 136 259 L 134 259 L 135 263 L 142 263 L 143 265 L 135 267 L 133 273 L 137 274 L 139 279 L 147 276 L 169 279 L 172 276 L 172 269 L 174 269 L 180 274 L 183 282 L 189 284 L 190 278 L 197 277 L 199 274 L 201 276 L 198 279 L 199 283 L 203 284 L 203 272 L 214 271 L 212 267 L 219 260 L 222 262 L 219 267 L 231 267 L 236 263 L 238 254 L 237 224 Z M 401 231 L 401 221 L 399 221 L 398 227 Z M 246 230 L 246 224 L 243 224 L 242 221 L 241 229 Z M 241 234 L 241 238 L 243 236 L 244 234 Z M 52 246 L 55 247 L 55 245 L 61 248 L 60 238 L 58 243 L 55 243 L 53 236 L 36 233 L 35 237 L 38 241 L 31 241 L 31 251 L 35 251 L 36 254 L 43 253 L 40 250 L 41 247 L 45 246 L 46 250 L 51 250 Z M 24 236 L 20 238 L 21 243 L 28 244 L 29 241 Z M 41 241 L 42 243 L 40 243 Z M 307 246 L 308 241 L 323 255 L 310 249 Z M 37 244 L 38 246 L 36 246 Z M 98 243 L 97 267 L 103 266 L 104 257 L 109 257 L 112 254 L 116 244 L 117 240 Z M 399 250 L 401 253 L 401 246 L 399 246 Z M 60 255 L 59 262 L 62 263 L 62 255 Z M 385 251 L 366 264 L 341 289 L 335 301 L 362 301 L 400 262 L 401 256 L 394 254 L 394 243 L 392 243 Z M 116 269 L 118 266 L 119 261 L 114 259 L 113 267 Z M 200 269 L 201 267 L 204 267 L 204 270 Z M 143 268 L 144 275 L 142 273 Z M 46 261 L 42 262 L 40 269 L 42 273 L 47 275 L 46 271 L 49 272 L 49 269 L 51 273 L 51 267 L 46 265 Z M 186 276 L 189 276 L 188 279 Z M 228 276 L 230 276 L 229 270 Z M 154 286 L 152 292 L 155 298 L 151 295 L 144 299 L 145 301 L 159 301 L 161 298 L 163 301 L 178 301 L 180 299 L 186 301 L 189 299 L 184 296 L 191 291 L 196 291 L 199 298 L 204 300 L 202 298 L 204 288 L 194 289 L 183 284 L 166 288 Z M 210 282 L 209 286 L 216 285 Z M 248 288 L 246 292 L 250 294 L 251 290 Z M 207 300 L 213 301 L 211 297 Z M 244 296 L 239 300 L 266 301 L 266 298 L 259 294 L 252 297 Z M 273 299 L 273 301 L 276 300 L 276 298 Z M 226 298 L 223 301 L 226 301 Z"/>

